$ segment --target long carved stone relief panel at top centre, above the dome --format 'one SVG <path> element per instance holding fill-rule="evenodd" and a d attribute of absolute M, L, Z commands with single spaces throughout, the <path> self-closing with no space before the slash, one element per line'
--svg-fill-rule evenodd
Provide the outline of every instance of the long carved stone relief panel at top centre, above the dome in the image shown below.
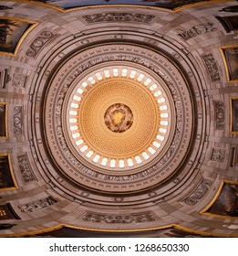
<path fill-rule="evenodd" d="M 140 22 L 150 23 L 155 16 L 144 14 L 131 14 L 131 13 L 107 13 L 107 14 L 94 14 L 82 16 L 87 23 L 96 22 L 112 22 L 112 21 L 127 21 L 127 22 Z"/>

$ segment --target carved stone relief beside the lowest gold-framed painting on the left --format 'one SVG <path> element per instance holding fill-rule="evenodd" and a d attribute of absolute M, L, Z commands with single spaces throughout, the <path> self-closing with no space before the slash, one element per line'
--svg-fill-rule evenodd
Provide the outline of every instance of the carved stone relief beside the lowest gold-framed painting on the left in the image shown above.
<path fill-rule="evenodd" d="M 34 176 L 34 173 L 30 167 L 27 155 L 17 155 L 17 161 L 24 181 L 26 183 L 35 181 L 36 176 Z"/>

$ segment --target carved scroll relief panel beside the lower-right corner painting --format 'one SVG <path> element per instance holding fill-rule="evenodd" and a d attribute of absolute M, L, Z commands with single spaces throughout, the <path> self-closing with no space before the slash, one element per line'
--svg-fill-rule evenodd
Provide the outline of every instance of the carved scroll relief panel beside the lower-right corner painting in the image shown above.
<path fill-rule="evenodd" d="M 199 186 L 191 193 L 189 197 L 187 197 L 184 202 L 189 206 L 195 205 L 199 199 L 205 196 L 209 187 L 211 187 L 212 181 L 207 178 L 202 178 L 202 182 Z"/>

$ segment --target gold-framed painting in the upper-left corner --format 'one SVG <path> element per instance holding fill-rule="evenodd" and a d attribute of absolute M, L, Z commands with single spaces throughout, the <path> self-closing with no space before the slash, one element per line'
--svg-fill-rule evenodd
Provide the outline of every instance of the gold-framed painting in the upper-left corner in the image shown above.
<path fill-rule="evenodd" d="M 32 24 L 13 18 L 0 18 L 0 53 L 16 54 L 21 38 Z"/>

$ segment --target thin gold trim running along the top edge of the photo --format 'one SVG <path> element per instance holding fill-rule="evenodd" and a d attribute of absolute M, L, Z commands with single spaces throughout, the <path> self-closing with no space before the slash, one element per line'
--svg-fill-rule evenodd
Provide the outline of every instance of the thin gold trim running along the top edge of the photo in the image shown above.
<path fill-rule="evenodd" d="M 34 5 L 42 5 L 42 6 L 47 6 L 49 8 L 53 8 L 56 9 L 57 11 L 60 12 L 71 12 L 71 11 L 76 11 L 76 10 L 83 10 L 83 9 L 88 9 L 88 8 L 105 8 L 105 7 L 139 7 L 139 8 L 147 8 L 147 9 L 154 9 L 154 10 L 160 10 L 160 11 L 166 11 L 166 12 L 170 12 L 170 13 L 176 13 L 178 11 L 181 11 L 183 9 L 187 9 L 190 7 L 196 7 L 196 6 L 200 6 L 200 5 L 209 5 L 209 4 L 216 4 L 216 3 L 226 3 L 226 2 L 233 2 L 233 0 L 211 0 L 211 1 L 204 1 L 204 2 L 199 2 L 199 3 L 194 3 L 194 4 L 187 4 L 187 5 L 181 5 L 179 7 L 176 7 L 174 9 L 169 9 L 166 7 L 159 7 L 159 6 L 151 6 L 151 5 L 87 5 L 87 6 L 78 6 L 78 7 L 71 7 L 68 9 L 65 9 L 63 7 L 59 7 L 57 5 L 54 4 L 47 4 L 47 3 L 40 3 L 37 1 L 31 1 L 31 0 L 9 0 L 10 2 L 22 2 L 22 3 L 28 3 L 28 4 L 34 4 Z"/>

